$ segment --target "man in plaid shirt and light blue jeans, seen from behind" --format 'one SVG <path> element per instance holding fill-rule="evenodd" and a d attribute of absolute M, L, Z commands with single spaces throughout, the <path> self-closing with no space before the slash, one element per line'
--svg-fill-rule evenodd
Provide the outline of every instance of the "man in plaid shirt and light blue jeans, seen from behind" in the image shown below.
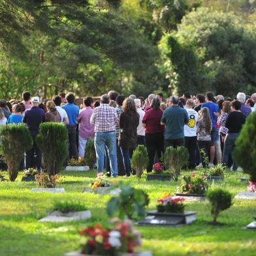
<path fill-rule="evenodd" d="M 110 158 L 110 170 L 113 177 L 118 176 L 118 165 L 116 157 L 116 124 L 118 114 L 116 109 L 109 106 L 110 97 L 101 96 L 101 105 L 95 108 L 91 116 L 91 124 L 95 125 L 95 150 L 97 156 L 98 175 L 103 174 L 104 153 L 107 148 Z"/>

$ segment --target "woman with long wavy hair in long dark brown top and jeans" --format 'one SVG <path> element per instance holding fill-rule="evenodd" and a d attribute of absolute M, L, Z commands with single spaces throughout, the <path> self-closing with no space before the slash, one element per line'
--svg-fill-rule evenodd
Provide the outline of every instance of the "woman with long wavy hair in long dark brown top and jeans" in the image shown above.
<path fill-rule="evenodd" d="M 123 112 L 120 114 L 119 126 L 121 133 L 118 138 L 118 146 L 121 148 L 126 176 L 131 176 L 130 151 L 136 148 L 137 126 L 140 116 L 136 111 L 135 101 L 131 98 L 123 102 Z"/>

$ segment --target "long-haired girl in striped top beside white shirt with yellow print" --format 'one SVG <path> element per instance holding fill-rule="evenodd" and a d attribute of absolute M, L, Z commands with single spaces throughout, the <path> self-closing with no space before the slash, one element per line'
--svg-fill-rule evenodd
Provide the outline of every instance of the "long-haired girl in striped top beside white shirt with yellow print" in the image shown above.
<path fill-rule="evenodd" d="M 200 150 L 200 163 L 197 167 L 204 167 L 204 159 L 208 155 L 211 144 L 212 120 L 208 108 L 201 108 L 197 123 L 197 143 Z M 202 164 L 203 163 L 203 164 Z"/>

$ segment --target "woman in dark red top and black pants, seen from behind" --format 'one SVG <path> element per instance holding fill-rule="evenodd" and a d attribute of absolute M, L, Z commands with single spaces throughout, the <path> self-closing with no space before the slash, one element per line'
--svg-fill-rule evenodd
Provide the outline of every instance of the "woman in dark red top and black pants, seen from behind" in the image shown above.
<path fill-rule="evenodd" d="M 160 101 L 154 98 L 150 110 L 146 112 L 142 120 L 142 125 L 146 128 L 145 140 L 148 150 L 148 167 L 147 172 L 152 172 L 155 152 L 158 159 L 161 159 L 164 148 L 165 127 L 161 125 L 163 110 L 160 108 Z"/>

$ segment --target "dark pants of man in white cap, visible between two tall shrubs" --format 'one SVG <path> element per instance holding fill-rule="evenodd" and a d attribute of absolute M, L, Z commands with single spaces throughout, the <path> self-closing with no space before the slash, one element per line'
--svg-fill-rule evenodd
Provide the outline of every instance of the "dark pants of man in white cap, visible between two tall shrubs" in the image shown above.
<path fill-rule="evenodd" d="M 31 131 L 31 136 L 33 138 L 33 147 L 31 150 L 25 152 L 25 168 L 34 168 L 37 167 L 37 170 L 42 168 L 42 152 L 40 152 L 37 143 L 35 142 L 35 137 L 39 132 Z"/>

